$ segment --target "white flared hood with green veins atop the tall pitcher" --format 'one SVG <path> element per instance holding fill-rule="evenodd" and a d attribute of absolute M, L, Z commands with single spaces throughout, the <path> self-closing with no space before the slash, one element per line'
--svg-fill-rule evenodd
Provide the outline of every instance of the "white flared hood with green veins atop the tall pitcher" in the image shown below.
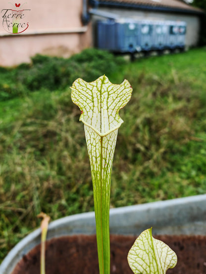
<path fill-rule="evenodd" d="M 72 101 L 81 110 L 80 121 L 99 136 L 108 135 L 123 123 L 119 110 L 128 103 L 132 93 L 127 80 L 112 84 L 106 76 L 89 83 L 78 78 L 71 89 Z"/>

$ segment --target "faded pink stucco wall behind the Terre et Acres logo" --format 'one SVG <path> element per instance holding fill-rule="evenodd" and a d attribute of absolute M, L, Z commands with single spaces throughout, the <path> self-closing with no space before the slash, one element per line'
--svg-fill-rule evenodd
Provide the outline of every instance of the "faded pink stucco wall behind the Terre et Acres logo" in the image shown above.
<path fill-rule="evenodd" d="M 82 0 L 10 2 L 13 5 L 8 0 L 0 0 L 0 66 L 29 62 L 36 53 L 68 57 L 91 46 L 91 26 L 85 27 L 81 22 Z M 20 6 L 15 7 L 15 3 Z M 7 31 L 12 32 L 12 29 L 7 28 L 2 9 L 30 9 L 25 10 L 20 19 L 24 26 L 28 23 L 28 28 L 21 34 L 9 34 Z M 12 22 L 12 19 L 7 20 Z M 19 30 L 24 29 L 19 27 Z"/>

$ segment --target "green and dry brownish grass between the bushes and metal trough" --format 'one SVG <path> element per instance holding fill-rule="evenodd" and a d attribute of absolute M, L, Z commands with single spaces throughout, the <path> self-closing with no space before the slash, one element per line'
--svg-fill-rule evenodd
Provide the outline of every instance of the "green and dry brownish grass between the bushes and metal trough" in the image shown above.
<path fill-rule="evenodd" d="M 111 207 L 206 193 L 205 60 L 206 48 L 193 49 L 107 73 L 113 83 L 127 78 L 134 89 L 120 111 Z M 0 73 L 5 86 L 13 71 Z M 70 90 L 59 90 L 40 85 L 0 102 L 1 259 L 40 225 L 40 211 L 55 220 L 94 209 L 80 111 Z"/>

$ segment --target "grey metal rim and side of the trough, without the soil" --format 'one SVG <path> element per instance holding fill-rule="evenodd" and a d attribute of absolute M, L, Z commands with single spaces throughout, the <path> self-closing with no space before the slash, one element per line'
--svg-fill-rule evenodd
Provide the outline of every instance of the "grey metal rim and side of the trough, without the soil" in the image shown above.
<path fill-rule="evenodd" d="M 112 208 L 110 233 L 139 235 L 153 227 L 153 235 L 206 235 L 206 195 Z M 95 213 L 64 217 L 49 225 L 48 239 L 63 235 L 96 233 Z M 21 240 L 0 265 L 0 274 L 11 274 L 16 264 L 41 242 L 37 229 Z"/>

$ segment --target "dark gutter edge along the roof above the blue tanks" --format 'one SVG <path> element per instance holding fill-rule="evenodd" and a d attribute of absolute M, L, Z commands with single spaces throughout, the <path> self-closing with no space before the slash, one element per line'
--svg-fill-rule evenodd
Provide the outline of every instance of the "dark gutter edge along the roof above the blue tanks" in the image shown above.
<path fill-rule="evenodd" d="M 150 5 L 141 5 L 135 3 L 126 3 L 126 2 L 116 2 L 116 1 L 104 1 L 104 0 L 89 0 L 90 4 L 94 7 L 118 7 L 118 8 L 135 8 L 139 10 L 149 10 L 149 11 L 163 11 L 163 12 L 177 12 L 184 14 L 205 14 L 204 10 L 192 10 L 192 9 L 183 9 L 167 6 L 150 6 Z"/>

